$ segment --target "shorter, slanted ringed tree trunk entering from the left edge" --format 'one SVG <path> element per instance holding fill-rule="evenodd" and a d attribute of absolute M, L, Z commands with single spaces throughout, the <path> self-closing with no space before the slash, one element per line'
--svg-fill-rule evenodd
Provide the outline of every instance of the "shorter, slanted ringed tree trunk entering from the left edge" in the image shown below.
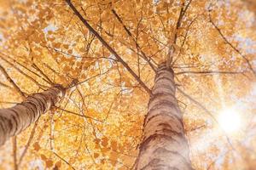
<path fill-rule="evenodd" d="M 0 145 L 36 122 L 42 114 L 54 106 L 65 94 L 61 85 L 32 94 L 14 107 L 0 110 Z"/>

